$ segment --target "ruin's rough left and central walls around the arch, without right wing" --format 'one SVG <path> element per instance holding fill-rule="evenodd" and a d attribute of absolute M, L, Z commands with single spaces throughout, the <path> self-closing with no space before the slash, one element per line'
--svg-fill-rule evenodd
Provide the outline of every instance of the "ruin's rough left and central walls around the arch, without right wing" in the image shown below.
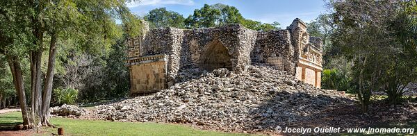
<path fill-rule="evenodd" d="M 225 55 L 230 56 L 231 69 L 239 71 L 251 63 L 256 34 L 240 24 L 198 29 L 155 28 L 147 31 L 145 37 L 129 39 L 129 49 L 140 50 L 140 53 L 129 50 L 129 58 L 165 54 L 168 80 L 174 80 L 182 67 L 202 67 L 202 56 L 208 57 L 206 52 L 217 41 L 224 46 Z"/>

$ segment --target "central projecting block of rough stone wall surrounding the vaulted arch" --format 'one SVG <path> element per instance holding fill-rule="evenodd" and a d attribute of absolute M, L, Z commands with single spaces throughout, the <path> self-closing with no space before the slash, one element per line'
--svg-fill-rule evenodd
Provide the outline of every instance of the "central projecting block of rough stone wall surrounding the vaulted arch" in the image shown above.
<path fill-rule="evenodd" d="M 216 28 L 200 28 L 185 30 L 183 40 L 183 66 L 190 65 L 204 69 L 204 60 L 216 45 L 223 48 L 230 56 L 231 69 L 238 70 L 250 64 L 250 51 L 256 38 L 256 31 L 244 28 L 240 24 L 231 24 Z M 220 68 L 220 67 L 219 67 Z"/>

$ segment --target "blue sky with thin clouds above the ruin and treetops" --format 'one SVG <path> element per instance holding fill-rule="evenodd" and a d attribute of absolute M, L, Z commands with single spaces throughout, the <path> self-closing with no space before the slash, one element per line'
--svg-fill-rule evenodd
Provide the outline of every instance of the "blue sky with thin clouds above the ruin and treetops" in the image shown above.
<path fill-rule="evenodd" d="M 127 3 L 131 11 L 143 16 L 154 8 L 166 7 L 184 17 L 202 8 L 204 3 L 224 3 L 238 8 L 243 17 L 263 23 L 279 22 L 281 28 L 289 26 L 296 17 L 304 22 L 315 19 L 326 12 L 323 0 L 141 0 Z"/>

